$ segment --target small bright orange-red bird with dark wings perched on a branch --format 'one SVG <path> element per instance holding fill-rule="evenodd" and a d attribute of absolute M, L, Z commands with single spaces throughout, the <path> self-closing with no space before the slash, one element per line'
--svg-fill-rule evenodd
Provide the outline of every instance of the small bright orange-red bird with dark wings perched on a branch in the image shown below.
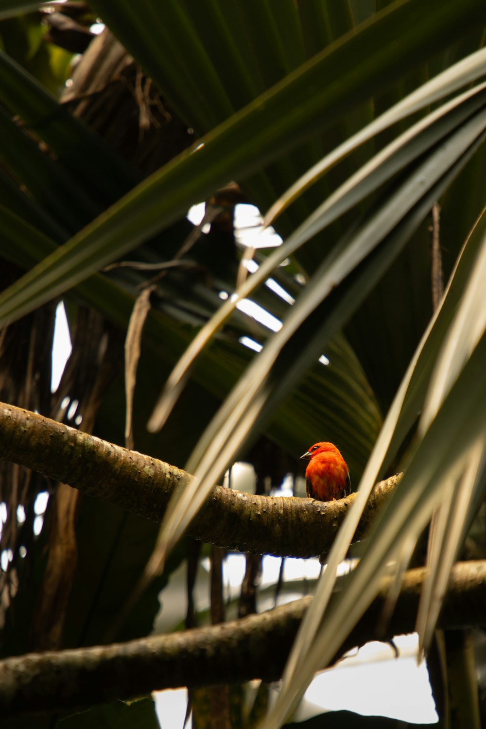
<path fill-rule="evenodd" d="M 332 443 L 315 443 L 300 456 L 309 459 L 305 469 L 305 493 L 318 501 L 344 499 L 351 493 L 349 469 Z"/>

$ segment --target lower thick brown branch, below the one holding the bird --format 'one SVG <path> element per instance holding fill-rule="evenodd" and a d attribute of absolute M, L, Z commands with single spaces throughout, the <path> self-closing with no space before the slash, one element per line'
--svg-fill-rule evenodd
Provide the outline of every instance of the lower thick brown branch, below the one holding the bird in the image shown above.
<path fill-rule="evenodd" d="M 382 612 L 390 582 L 385 580 L 379 596 L 342 645 L 337 658 L 376 636 L 387 640 L 412 632 L 424 574 L 423 567 L 405 574 L 387 626 L 383 626 Z M 184 633 L 7 658 L 0 661 L 0 714 L 74 709 L 180 686 L 227 684 L 254 678 L 275 681 L 281 677 L 311 599 Z M 439 625 L 486 625 L 485 601 L 486 561 L 455 564 Z"/>

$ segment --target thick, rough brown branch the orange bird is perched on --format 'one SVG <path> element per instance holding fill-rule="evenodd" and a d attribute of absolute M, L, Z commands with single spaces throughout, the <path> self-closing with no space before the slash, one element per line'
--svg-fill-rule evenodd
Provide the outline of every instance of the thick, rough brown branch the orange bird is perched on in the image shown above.
<path fill-rule="evenodd" d="M 0 459 L 27 466 L 136 514 L 162 521 L 174 489 L 191 477 L 28 410 L 0 404 Z M 375 486 L 355 539 L 400 475 Z M 189 526 L 203 542 L 240 552 L 312 557 L 329 550 L 356 494 L 337 502 L 251 496 L 216 486 Z"/>

